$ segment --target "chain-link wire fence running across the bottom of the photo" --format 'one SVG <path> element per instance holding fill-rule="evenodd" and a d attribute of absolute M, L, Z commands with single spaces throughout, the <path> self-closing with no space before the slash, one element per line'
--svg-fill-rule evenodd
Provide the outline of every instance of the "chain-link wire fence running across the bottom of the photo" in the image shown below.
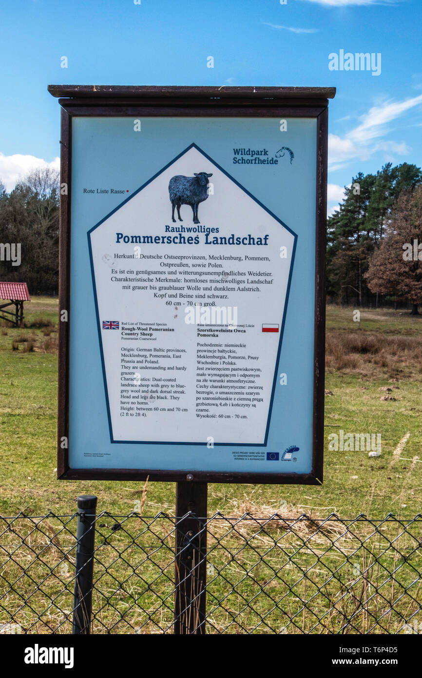
<path fill-rule="evenodd" d="M 82 565 L 80 514 L 0 518 L 0 633 L 75 632 L 87 597 L 85 633 L 422 630 L 421 515 L 87 518 Z"/>

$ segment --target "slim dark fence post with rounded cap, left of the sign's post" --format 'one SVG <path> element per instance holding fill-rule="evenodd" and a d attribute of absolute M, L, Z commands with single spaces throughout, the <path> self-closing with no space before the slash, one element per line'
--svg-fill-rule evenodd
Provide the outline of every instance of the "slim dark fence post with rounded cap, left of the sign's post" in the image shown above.
<path fill-rule="evenodd" d="M 96 507 L 97 497 L 93 494 L 81 494 L 81 496 L 78 497 L 75 597 L 73 603 L 72 626 L 73 635 L 91 633 Z"/>

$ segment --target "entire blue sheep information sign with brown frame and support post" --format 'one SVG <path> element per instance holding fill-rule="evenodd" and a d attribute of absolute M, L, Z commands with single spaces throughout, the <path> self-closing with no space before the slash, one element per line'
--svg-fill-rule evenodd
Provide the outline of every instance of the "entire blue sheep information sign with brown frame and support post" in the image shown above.
<path fill-rule="evenodd" d="M 322 483 L 335 89 L 49 92 L 58 477 L 177 483 L 176 631 L 202 633 L 207 483 Z"/>

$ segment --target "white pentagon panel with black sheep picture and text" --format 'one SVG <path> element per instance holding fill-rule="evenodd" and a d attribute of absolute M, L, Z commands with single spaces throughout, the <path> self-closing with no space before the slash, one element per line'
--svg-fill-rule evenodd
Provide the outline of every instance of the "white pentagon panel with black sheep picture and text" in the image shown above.
<path fill-rule="evenodd" d="M 265 445 L 295 233 L 192 144 L 88 238 L 111 441 Z"/>

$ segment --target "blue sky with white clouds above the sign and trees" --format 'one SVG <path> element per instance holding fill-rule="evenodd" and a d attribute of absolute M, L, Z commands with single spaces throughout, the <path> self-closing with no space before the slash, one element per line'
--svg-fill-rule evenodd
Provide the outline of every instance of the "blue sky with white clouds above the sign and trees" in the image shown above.
<path fill-rule="evenodd" d="M 8 188 L 37 164 L 58 164 L 60 115 L 49 83 L 335 86 L 329 212 L 357 172 L 386 161 L 422 165 L 421 0 L 2 5 L 0 178 Z M 381 54 L 380 75 L 330 70 L 329 54 L 341 49 Z"/>

